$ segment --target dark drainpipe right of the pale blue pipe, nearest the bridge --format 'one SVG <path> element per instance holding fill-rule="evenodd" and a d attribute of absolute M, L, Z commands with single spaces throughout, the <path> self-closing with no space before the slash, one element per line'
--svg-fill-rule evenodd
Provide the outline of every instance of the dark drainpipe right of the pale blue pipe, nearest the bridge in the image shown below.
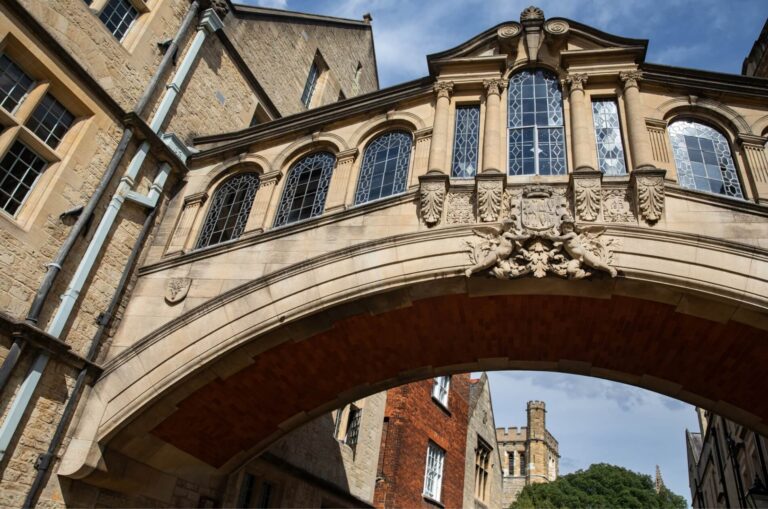
<path fill-rule="evenodd" d="M 96 353 L 98 352 L 99 345 L 101 344 L 101 338 L 104 335 L 104 332 L 107 330 L 107 325 L 109 325 L 111 322 L 115 310 L 120 305 L 120 300 L 123 296 L 123 290 L 125 289 L 125 285 L 130 279 L 131 269 L 136 263 L 136 258 L 138 257 L 142 246 L 144 245 L 144 240 L 146 239 L 149 230 L 152 228 L 152 224 L 155 221 L 156 215 L 157 207 L 153 208 L 152 212 L 150 212 L 144 220 L 144 225 L 139 232 L 139 236 L 136 239 L 136 242 L 133 244 L 131 254 L 128 255 L 128 260 L 125 263 L 125 269 L 120 276 L 120 282 L 117 284 L 117 288 L 115 288 L 115 293 L 112 295 L 112 300 L 109 302 L 109 306 L 104 311 L 104 313 L 99 316 L 99 328 L 96 330 L 96 334 L 91 339 L 91 345 L 88 349 L 88 354 L 86 355 L 86 359 L 89 361 L 93 361 L 96 358 Z M 40 490 L 43 487 L 43 482 L 45 482 L 46 473 L 53 464 L 56 450 L 61 444 L 61 439 L 64 437 L 64 432 L 69 425 L 72 414 L 75 412 L 75 408 L 77 407 L 77 402 L 80 399 L 80 393 L 82 392 L 83 386 L 85 385 L 87 374 L 88 369 L 84 366 L 80 370 L 80 373 L 77 375 L 75 385 L 72 387 L 72 392 L 70 393 L 69 398 L 67 399 L 67 403 L 64 406 L 64 412 L 62 412 L 61 419 L 59 419 L 59 422 L 56 425 L 56 431 L 54 431 L 51 442 L 48 444 L 48 450 L 44 454 L 41 454 L 35 462 L 37 473 L 35 474 L 35 479 L 32 481 L 32 485 L 29 488 L 29 492 L 27 492 L 27 497 L 24 500 L 24 505 L 22 506 L 24 508 L 33 507 L 35 505 L 37 497 L 40 494 Z"/>

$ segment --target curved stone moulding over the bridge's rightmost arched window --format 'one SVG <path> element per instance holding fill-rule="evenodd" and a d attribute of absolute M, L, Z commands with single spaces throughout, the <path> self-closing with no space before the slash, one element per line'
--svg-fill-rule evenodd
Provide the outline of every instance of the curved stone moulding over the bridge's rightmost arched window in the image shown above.
<path fill-rule="evenodd" d="M 733 147 L 738 133 L 752 133 L 752 129 L 744 117 L 732 108 L 711 99 L 699 98 L 692 102 L 687 98 L 678 97 L 660 104 L 656 111 L 658 118 L 663 118 L 667 124 L 684 116 L 713 123 L 727 135 L 731 147 Z"/>

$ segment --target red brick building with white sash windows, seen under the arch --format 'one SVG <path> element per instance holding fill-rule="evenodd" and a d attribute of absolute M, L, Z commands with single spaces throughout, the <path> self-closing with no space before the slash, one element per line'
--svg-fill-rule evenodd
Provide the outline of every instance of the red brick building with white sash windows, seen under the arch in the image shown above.
<path fill-rule="evenodd" d="M 469 374 L 387 392 L 377 508 L 462 507 L 469 394 Z"/>

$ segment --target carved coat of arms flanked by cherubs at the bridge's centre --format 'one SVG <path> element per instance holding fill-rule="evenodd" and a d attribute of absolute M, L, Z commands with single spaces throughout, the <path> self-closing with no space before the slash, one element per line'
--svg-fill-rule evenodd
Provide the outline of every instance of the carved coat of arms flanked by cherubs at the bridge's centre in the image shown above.
<path fill-rule="evenodd" d="M 467 277 L 487 272 L 499 279 L 554 274 L 583 279 L 595 271 L 616 277 L 605 228 L 578 228 L 567 211 L 565 196 L 547 186 L 523 191 L 521 217 L 513 210 L 499 226 L 475 228 L 479 241 L 467 242 L 471 266 Z"/>

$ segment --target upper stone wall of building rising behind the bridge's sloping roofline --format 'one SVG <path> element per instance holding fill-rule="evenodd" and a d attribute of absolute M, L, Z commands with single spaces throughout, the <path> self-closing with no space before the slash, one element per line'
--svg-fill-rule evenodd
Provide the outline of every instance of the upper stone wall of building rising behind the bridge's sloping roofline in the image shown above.
<path fill-rule="evenodd" d="M 353 97 L 355 90 L 364 94 L 378 88 L 372 32 L 365 26 L 249 15 L 230 15 L 225 21 L 243 59 L 283 116 L 306 109 L 301 94 L 318 51 L 333 79 L 324 83 L 321 76 L 312 107 L 335 102 L 340 90 Z M 356 87 L 358 63 L 362 72 Z"/>

